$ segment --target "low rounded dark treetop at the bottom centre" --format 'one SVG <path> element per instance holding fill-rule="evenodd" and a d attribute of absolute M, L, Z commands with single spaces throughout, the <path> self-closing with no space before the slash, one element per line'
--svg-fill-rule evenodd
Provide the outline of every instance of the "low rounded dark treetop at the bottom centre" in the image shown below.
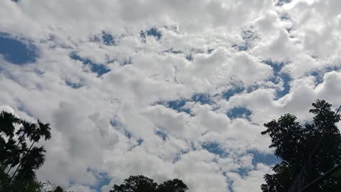
<path fill-rule="evenodd" d="M 180 179 L 165 181 L 158 185 L 146 176 L 129 176 L 121 185 L 114 185 L 109 192 L 185 192 L 188 187 Z"/>

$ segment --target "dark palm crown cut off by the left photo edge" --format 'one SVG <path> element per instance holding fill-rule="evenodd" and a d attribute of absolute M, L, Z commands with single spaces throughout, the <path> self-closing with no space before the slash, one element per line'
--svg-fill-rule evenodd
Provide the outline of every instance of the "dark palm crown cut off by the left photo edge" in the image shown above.
<path fill-rule="evenodd" d="M 14 124 L 18 124 L 20 119 L 9 112 L 0 113 L 0 133 L 3 132 L 7 137 L 13 137 Z"/>

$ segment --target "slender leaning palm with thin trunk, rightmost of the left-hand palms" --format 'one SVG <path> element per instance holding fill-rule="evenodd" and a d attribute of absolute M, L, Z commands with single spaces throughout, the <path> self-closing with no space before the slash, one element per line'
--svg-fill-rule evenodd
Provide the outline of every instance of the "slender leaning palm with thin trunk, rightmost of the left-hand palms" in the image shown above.
<path fill-rule="evenodd" d="M 36 129 L 34 129 L 32 135 L 31 135 L 31 140 L 33 141 L 30 148 L 28 149 L 28 151 L 31 151 L 31 148 L 33 146 L 33 144 L 35 144 L 36 142 L 38 142 L 42 137 L 45 137 L 45 141 L 48 139 L 51 139 L 51 128 L 50 128 L 50 124 L 44 124 L 43 122 L 40 122 L 40 120 L 38 119 L 38 127 L 36 127 Z M 21 161 L 22 163 L 22 161 Z M 18 167 L 16 168 L 16 171 L 18 171 L 18 169 L 21 166 L 21 163 L 18 165 Z M 11 180 L 14 177 L 14 175 L 16 174 L 16 171 L 14 171 L 13 175 L 11 176 Z"/>

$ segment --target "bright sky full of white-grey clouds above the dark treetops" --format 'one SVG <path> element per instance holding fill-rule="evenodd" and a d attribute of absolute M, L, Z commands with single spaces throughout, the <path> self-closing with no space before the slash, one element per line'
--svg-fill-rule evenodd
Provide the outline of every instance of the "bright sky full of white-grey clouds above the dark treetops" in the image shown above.
<path fill-rule="evenodd" d="M 340 0 L 3 0 L 0 110 L 50 122 L 37 171 L 70 191 L 130 175 L 261 191 L 282 114 L 341 105 Z"/>

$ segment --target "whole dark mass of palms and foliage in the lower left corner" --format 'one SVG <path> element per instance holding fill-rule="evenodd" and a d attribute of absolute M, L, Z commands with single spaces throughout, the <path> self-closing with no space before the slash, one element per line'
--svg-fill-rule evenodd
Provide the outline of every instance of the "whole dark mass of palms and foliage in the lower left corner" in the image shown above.
<path fill-rule="evenodd" d="M 0 112 L 0 191 L 43 191 L 44 183 L 36 181 L 35 171 L 44 164 L 46 151 L 34 144 L 50 138 L 50 124 Z M 29 148 L 26 142 L 31 142 Z"/>

